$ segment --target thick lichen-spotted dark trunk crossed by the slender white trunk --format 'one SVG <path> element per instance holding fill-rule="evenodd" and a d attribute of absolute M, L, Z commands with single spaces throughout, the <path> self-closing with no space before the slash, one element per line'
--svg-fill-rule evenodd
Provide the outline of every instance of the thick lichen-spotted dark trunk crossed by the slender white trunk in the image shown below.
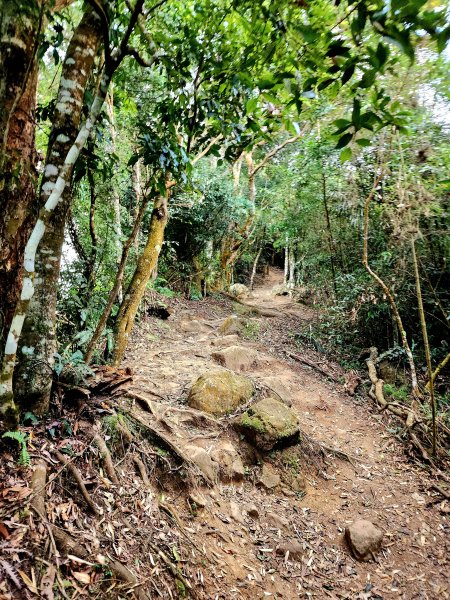
<path fill-rule="evenodd" d="M 47 148 L 40 205 L 47 202 L 55 187 L 64 158 L 76 137 L 83 98 L 102 40 L 101 21 L 90 8 L 76 28 L 62 67 L 53 125 Z M 35 293 L 23 326 L 18 365 L 14 372 L 14 394 L 36 414 L 43 414 L 50 400 L 52 367 L 56 352 L 55 320 L 58 279 L 64 243 L 64 226 L 71 203 L 73 164 L 67 170 L 67 185 L 61 201 L 47 223 L 36 254 Z"/>

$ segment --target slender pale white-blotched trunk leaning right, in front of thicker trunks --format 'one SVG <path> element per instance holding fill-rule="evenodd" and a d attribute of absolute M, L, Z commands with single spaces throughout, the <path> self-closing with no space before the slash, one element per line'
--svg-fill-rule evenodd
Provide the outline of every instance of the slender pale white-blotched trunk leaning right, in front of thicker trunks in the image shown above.
<path fill-rule="evenodd" d="M 34 294 L 36 253 L 39 244 L 44 236 L 45 230 L 53 216 L 53 212 L 62 201 L 64 191 L 70 182 L 73 167 L 84 148 L 89 135 L 95 125 L 95 122 L 103 107 L 109 84 L 112 76 L 118 68 L 123 58 L 130 53 L 128 42 L 135 28 L 138 15 L 142 11 L 144 0 L 137 0 L 134 9 L 130 15 L 128 26 L 122 37 L 120 44 L 111 55 L 109 48 L 105 48 L 105 68 L 98 91 L 91 105 L 89 116 L 81 126 L 73 145 L 67 153 L 62 165 L 57 173 L 56 181 L 52 191 L 45 203 L 40 209 L 38 219 L 28 238 L 24 251 L 24 277 L 20 289 L 20 299 L 16 305 L 11 326 L 6 338 L 4 349 L 3 364 L 0 373 L 0 417 L 7 427 L 16 428 L 18 424 L 18 410 L 14 401 L 13 394 L 13 374 L 17 358 L 17 349 L 20 337 L 22 335 L 25 315 Z"/>

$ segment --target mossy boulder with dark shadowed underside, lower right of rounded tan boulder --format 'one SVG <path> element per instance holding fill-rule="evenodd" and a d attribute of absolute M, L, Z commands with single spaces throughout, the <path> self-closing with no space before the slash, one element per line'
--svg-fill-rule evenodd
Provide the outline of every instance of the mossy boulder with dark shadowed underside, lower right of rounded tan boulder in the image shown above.
<path fill-rule="evenodd" d="M 253 404 L 234 423 L 249 442 L 264 451 L 277 444 L 296 443 L 299 436 L 297 415 L 275 398 Z"/>

